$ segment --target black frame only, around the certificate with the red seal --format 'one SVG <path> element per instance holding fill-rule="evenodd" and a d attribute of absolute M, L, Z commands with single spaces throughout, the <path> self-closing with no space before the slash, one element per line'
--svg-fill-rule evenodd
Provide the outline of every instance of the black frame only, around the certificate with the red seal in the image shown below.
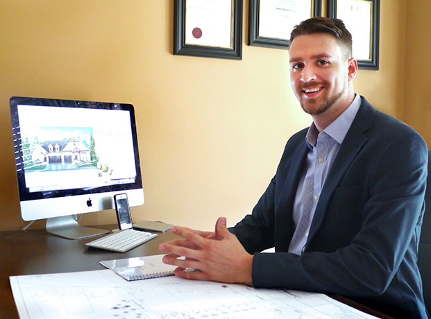
<path fill-rule="evenodd" d="M 174 5 L 174 55 L 193 55 L 205 58 L 242 60 L 242 0 L 233 1 L 231 48 L 185 43 L 186 1 L 175 0 Z"/>

